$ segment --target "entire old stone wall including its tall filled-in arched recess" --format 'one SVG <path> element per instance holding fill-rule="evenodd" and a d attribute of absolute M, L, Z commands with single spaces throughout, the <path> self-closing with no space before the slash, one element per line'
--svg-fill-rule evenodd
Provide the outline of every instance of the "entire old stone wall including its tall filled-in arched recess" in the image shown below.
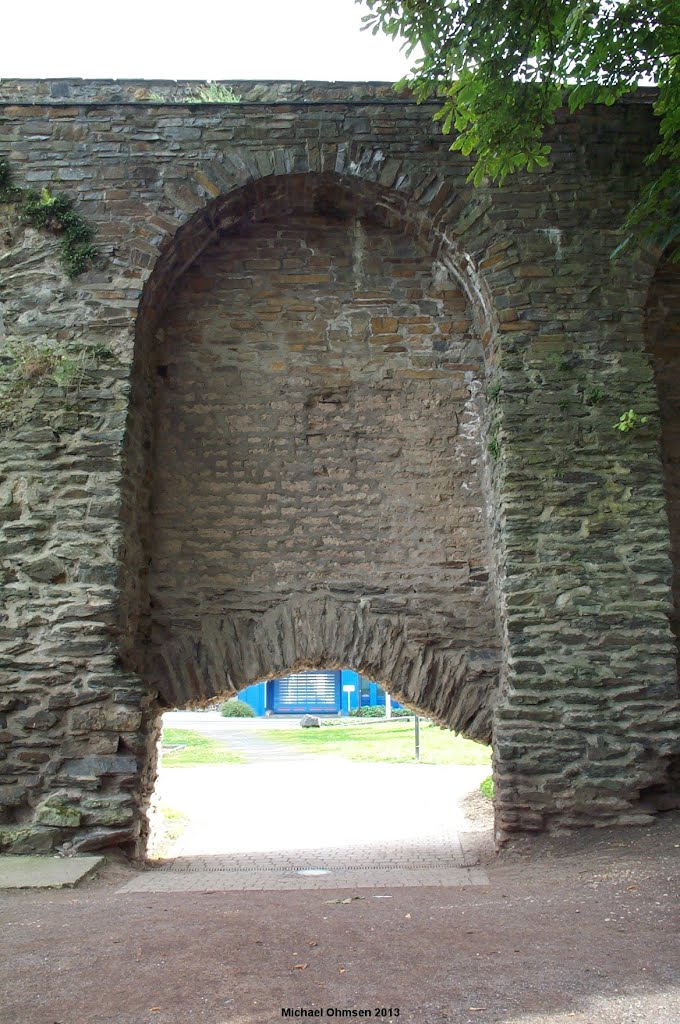
<path fill-rule="evenodd" d="M 678 278 L 609 258 L 648 96 L 473 188 L 386 86 L 232 85 L 0 84 L 15 183 L 100 252 L 69 281 L 0 207 L 0 848 L 142 849 L 162 708 L 313 667 L 491 740 L 500 841 L 652 820 Z"/>

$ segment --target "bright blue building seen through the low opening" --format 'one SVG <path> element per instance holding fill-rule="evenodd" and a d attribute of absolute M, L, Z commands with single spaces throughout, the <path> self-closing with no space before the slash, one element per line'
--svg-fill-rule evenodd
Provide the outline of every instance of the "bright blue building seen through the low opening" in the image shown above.
<path fill-rule="evenodd" d="M 239 700 L 257 715 L 348 715 L 356 708 L 384 708 L 385 691 L 350 669 L 332 669 L 255 683 L 241 691 Z M 400 705 L 392 701 L 392 707 Z"/>

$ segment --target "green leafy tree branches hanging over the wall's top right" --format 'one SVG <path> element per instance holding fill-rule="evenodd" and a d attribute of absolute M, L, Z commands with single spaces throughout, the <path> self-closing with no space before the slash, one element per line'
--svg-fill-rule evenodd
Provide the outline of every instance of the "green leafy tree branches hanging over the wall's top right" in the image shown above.
<path fill-rule="evenodd" d="M 419 50 L 406 80 L 453 150 L 474 154 L 470 178 L 503 182 L 545 167 L 557 108 L 613 103 L 640 82 L 658 89 L 656 176 L 629 216 L 629 237 L 680 257 L 680 0 L 356 0 L 374 33 Z M 621 249 L 622 247 L 620 247 Z"/>

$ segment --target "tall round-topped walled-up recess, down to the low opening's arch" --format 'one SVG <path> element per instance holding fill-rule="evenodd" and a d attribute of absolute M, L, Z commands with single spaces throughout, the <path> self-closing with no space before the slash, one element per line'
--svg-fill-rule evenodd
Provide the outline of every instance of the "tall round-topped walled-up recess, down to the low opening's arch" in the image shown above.
<path fill-rule="evenodd" d="M 138 492 L 128 549 L 148 604 L 127 656 L 167 706 L 352 665 L 491 739 L 484 354 L 405 210 L 335 175 L 261 180 L 148 283 L 130 437 L 153 514 Z"/>

